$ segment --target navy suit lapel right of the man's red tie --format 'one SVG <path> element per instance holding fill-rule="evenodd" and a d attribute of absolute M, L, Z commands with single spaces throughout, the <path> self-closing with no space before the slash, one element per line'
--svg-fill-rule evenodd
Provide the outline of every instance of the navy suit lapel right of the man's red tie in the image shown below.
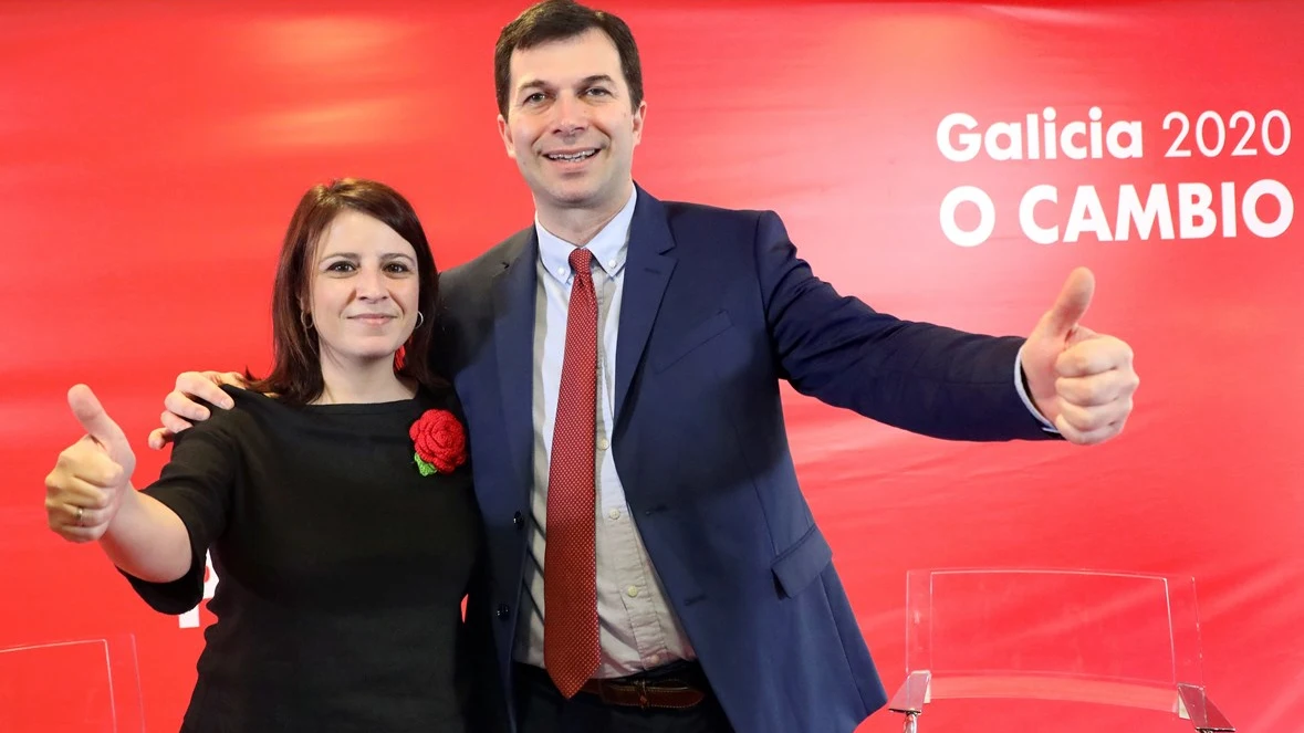
<path fill-rule="evenodd" d="M 621 331 L 615 347 L 615 424 L 621 415 L 634 374 L 643 361 L 652 323 L 665 286 L 670 282 L 675 258 L 666 254 L 674 248 L 665 207 L 660 201 L 638 189 L 634 220 L 630 223 L 630 249 L 625 261 L 625 296 L 621 304 Z"/>

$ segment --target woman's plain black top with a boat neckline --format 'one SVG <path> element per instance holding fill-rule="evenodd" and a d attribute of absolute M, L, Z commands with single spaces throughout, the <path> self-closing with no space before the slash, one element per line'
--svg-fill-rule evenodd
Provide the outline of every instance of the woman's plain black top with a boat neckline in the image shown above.
<path fill-rule="evenodd" d="M 153 608 L 184 613 L 211 548 L 218 620 L 183 730 L 466 730 L 471 467 L 422 476 L 408 437 L 428 408 L 462 420 L 452 391 L 288 407 L 223 389 L 235 408 L 181 433 L 143 489 L 185 523 L 190 571 L 129 576 Z"/>

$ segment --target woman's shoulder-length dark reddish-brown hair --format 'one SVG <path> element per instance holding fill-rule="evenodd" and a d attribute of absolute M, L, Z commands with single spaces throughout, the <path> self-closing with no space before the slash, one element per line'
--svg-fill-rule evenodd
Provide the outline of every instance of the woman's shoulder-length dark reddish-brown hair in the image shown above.
<path fill-rule="evenodd" d="M 335 217 L 353 210 L 373 217 L 398 232 L 416 250 L 417 309 L 422 318 L 411 338 L 395 355 L 395 372 L 416 380 L 426 387 L 442 387 L 447 382 L 430 366 L 430 340 L 436 329 L 439 277 L 425 239 L 421 222 L 412 205 L 393 188 L 365 179 L 339 179 L 329 185 L 314 185 L 299 201 L 295 215 L 286 231 L 276 265 L 276 284 L 271 295 L 271 333 L 274 364 L 265 378 L 249 378 L 249 389 L 274 393 L 291 404 L 306 404 L 317 399 L 322 382 L 321 351 L 317 334 L 305 327 L 309 286 L 314 271 L 313 260 L 322 233 Z"/>

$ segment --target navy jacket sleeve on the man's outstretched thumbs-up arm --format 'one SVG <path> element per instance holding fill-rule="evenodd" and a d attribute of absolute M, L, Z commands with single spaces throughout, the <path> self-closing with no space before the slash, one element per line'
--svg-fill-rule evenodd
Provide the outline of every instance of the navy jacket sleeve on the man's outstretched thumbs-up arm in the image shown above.
<path fill-rule="evenodd" d="M 773 357 L 797 391 L 938 438 L 1054 437 L 1015 386 L 1022 338 L 902 321 L 838 295 L 771 211 L 758 219 L 755 247 Z"/>

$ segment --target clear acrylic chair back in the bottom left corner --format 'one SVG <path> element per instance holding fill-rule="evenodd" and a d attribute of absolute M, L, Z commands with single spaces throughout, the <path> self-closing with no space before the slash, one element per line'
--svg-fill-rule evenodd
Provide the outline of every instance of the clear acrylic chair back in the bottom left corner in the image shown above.
<path fill-rule="evenodd" d="M 142 733 L 134 636 L 0 648 L 0 730 Z"/>

